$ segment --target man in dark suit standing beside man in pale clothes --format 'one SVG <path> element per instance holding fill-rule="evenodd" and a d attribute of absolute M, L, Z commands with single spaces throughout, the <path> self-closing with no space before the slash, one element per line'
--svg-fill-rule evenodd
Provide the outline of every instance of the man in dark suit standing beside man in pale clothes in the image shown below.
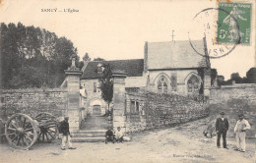
<path fill-rule="evenodd" d="M 224 142 L 224 148 L 228 149 L 226 147 L 226 132 L 228 130 L 228 121 L 226 118 L 224 118 L 224 112 L 221 112 L 221 117 L 217 119 L 216 121 L 216 133 L 217 133 L 217 147 L 221 148 L 220 140 L 221 136 L 223 135 L 223 142 Z"/>

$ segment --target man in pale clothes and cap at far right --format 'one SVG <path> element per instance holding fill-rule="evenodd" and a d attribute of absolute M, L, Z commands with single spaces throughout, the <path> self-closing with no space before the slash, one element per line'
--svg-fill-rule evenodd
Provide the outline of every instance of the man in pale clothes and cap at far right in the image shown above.
<path fill-rule="evenodd" d="M 235 139 L 236 139 L 236 149 L 240 152 L 245 152 L 245 136 L 246 130 L 251 129 L 250 124 L 244 119 L 243 114 L 238 115 L 239 120 L 234 127 Z"/>

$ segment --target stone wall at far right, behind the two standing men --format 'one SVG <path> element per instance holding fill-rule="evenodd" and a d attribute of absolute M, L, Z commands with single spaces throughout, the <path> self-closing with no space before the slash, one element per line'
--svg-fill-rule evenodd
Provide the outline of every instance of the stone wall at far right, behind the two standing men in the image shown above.
<path fill-rule="evenodd" d="M 238 114 L 243 113 L 251 125 L 247 136 L 255 137 L 256 131 L 256 85 L 242 83 L 212 87 L 210 91 L 210 115 L 216 119 L 221 111 L 229 121 L 227 136 L 233 135 L 233 128 L 238 120 Z"/>

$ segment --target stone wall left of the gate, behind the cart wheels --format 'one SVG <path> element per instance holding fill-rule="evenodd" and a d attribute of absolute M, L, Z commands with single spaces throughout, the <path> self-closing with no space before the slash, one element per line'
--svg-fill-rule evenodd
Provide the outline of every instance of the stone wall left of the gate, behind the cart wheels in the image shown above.
<path fill-rule="evenodd" d="M 3 121 L 15 113 L 35 117 L 40 112 L 48 112 L 60 118 L 68 109 L 68 92 L 64 88 L 5 89 L 0 92 L 0 118 Z"/>

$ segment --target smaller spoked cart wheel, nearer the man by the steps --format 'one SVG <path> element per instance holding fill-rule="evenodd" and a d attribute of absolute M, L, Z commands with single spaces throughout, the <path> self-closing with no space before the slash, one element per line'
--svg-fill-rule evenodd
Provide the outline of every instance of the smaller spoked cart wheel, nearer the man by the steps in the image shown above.
<path fill-rule="evenodd" d="M 51 142 L 57 136 L 56 117 L 50 113 L 39 113 L 35 120 L 39 123 L 39 142 Z"/>

